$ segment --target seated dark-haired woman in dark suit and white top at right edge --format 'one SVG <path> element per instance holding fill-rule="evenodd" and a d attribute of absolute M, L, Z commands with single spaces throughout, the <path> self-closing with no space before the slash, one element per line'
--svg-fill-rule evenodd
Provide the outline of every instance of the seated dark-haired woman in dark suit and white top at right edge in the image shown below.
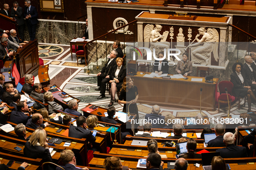
<path fill-rule="evenodd" d="M 234 63 L 232 66 L 233 73 L 230 75 L 230 82 L 232 82 L 234 85 L 232 92 L 237 97 L 247 96 L 247 102 L 248 102 L 247 111 L 251 112 L 252 99 L 256 101 L 256 98 L 255 98 L 255 95 L 253 94 L 253 91 L 251 90 L 251 87 L 249 86 L 246 76 L 244 75 L 243 72 L 241 72 L 242 69 L 243 69 L 242 63 Z"/>

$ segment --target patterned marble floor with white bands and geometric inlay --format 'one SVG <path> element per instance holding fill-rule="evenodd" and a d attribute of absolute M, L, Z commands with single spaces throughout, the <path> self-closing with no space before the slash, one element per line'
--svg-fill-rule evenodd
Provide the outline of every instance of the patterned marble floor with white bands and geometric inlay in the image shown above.
<path fill-rule="evenodd" d="M 44 64 L 49 64 L 49 77 L 51 79 L 51 85 L 57 85 L 63 91 L 81 100 L 79 103 L 78 111 L 82 113 L 81 109 L 87 106 L 87 104 L 94 104 L 100 107 L 107 108 L 110 103 L 110 95 L 106 91 L 106 98 L 98 100 L 97 97 L 100 95 L 97 88 L 97 75 L 84 73 L 85 65 L 81 64 L 81 59 L 78 59 L 73 54 L 73 60 L 71 60 L 70 46 L 60 44 L 43 44 L 39 43 L 39 55 L 44 60 Z M 40 51 L 41 50 L 41 51 Z M 47 52 L 48 50 L 49 52 Z M 54 50 L 54 53 L 50 53 L 50 50 Z M 44 54 L 46 53 L 46 54 Z M 42 55 L 43 54 L 43 55 Z M 47 57 L 48 55 L 48 57 Z M 84 62 L 84 61 L 83 61 Z M 37 73 L 34 73 L 37 74 Z M 35 77 L 35 83 L 39 82 L 38 76 Z M 135 84 L 136 85 L 136 84 Z M 117 94 L 116 94 L 117 99 Z M 241 105 L 244 100 L 241 100 Z M 139 118 L 143 119 L 147 113 L 152 110 L 152 105 L 137 104 L 139 109 Z M 114 107 L 122 111 L 123 105 L 114 103 Z M 237 115 L 240 113 L 246 113 L 248 109 L 247 103 L 245 107 L 240 107 L 238 110 L 238 101 L 231 106 L 231 115 Z M 161 107 L 162 114 L 172 114 L 174 116 L 195 116 L 200 110 L 188 110 L 175 107 Z M 252 110 L 256 110 L 256 104 L 252 104 Z M 202 114 L 211 118 L 211 127 L 217 123 L 217 118 L 226 116 L 228 107 L 223 107 L 216 111 L 205 111 L 202 110 Z M 213 120 L 212 120 L 213 119 Z"/>

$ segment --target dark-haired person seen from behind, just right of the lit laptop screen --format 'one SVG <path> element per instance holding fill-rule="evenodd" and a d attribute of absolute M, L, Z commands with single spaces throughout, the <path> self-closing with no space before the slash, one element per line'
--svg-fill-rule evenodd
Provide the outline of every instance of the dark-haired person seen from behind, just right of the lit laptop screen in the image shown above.
<path fill-rule="evenodd" d="M 188 153 L 180 155 L 179 158 L 183 157 L 185 159 L 194 159 L 194 158 L 202 158 L 201 154 L 196 154 L 194 151 L 197 148 L 197 142 L 194 139 L 189 139 L 187 143 Z"/>

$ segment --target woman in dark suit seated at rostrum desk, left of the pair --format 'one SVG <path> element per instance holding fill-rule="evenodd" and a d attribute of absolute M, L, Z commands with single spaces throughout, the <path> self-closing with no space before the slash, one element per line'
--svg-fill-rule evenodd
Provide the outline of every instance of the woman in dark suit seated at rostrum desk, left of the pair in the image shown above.
<path fill-rule="evenodd" d="M 158 54 L 158 58 L 161 59 L 164 57 L 164 53 L 161 51 Z M 169 71 L 169 65 L 167 60 L 155 60 L 155 63 L 160 63 L 159 65 L 154 65 L 154 72 L 158 74 L 159 76 L 162 74 L 168 74 Z"/>

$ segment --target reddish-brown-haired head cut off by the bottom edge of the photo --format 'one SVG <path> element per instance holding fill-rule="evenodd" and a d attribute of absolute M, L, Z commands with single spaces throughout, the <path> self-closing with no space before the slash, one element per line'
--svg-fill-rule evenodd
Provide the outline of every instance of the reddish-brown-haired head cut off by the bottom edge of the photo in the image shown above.
<path fill-rule="evenodd" d="M 103 162 L 106 170 L 122 170 L 123 165 L 119 157 L 107 157 Z M 131 170 L 128 168 L 128 170 Z"/>

